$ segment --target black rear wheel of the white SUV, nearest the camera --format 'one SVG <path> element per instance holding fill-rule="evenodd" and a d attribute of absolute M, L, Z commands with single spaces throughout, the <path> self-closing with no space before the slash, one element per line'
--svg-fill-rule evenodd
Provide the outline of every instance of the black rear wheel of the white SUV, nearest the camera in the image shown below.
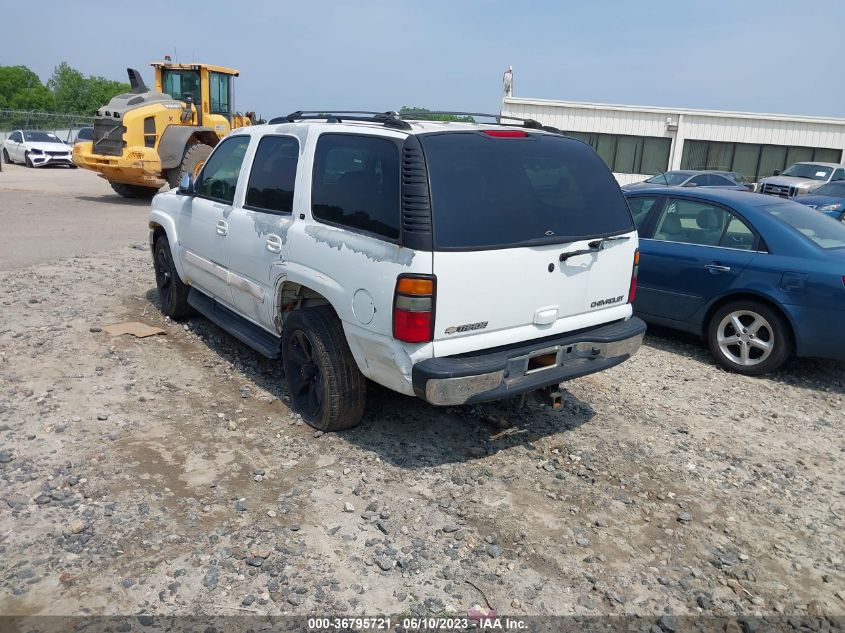
<path fill-rule="evenodd" d="M 366 381 L 331 307 L 303 308 L 288 318 L 282 362 L 293 409 L 308 424 L 342 431 L 361 421 Z"/>

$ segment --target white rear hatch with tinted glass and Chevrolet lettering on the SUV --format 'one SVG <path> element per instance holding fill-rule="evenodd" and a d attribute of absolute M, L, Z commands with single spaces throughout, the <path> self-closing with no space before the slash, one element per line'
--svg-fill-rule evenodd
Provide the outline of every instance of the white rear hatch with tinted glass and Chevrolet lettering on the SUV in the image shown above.
<path fill-rule="evenodd" d="M 436 356 L 630 316 L 637 236 L 592 148 L 508 129 L 420 141 L 431 189 Z"/>

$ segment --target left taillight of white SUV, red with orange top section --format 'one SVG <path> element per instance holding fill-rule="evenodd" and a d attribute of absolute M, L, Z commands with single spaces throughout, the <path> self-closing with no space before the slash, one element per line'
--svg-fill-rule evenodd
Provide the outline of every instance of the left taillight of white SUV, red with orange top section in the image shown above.
<path fill-rule="evenodd" d="M 434 338 L 435 279 L 430 275 L 400 275 L 393 295 L 393 338 L 428 343 Z"/>

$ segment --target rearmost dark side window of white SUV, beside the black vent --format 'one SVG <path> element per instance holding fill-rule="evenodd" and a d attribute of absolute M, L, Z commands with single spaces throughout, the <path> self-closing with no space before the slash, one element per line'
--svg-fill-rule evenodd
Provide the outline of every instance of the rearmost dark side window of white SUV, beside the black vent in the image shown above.
<path fill-rule="evenodd" d="M 320 221 L 399 238 L 399 148 L 390 139 L 323 134 L 311 209 Z"/>

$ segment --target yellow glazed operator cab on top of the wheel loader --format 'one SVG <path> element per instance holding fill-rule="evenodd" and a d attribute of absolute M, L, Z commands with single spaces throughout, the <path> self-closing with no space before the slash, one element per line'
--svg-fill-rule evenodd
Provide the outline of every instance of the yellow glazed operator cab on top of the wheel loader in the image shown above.
<path fill-rule="evenodd" d="M 207 64 L 152 64 L 155 87 L 177 101 L 193 101 L 192 125 L 212 128 L 219 137 L 228 134 L 235 124 L 234 78 L 240 73 L 233 68 Z"/>

